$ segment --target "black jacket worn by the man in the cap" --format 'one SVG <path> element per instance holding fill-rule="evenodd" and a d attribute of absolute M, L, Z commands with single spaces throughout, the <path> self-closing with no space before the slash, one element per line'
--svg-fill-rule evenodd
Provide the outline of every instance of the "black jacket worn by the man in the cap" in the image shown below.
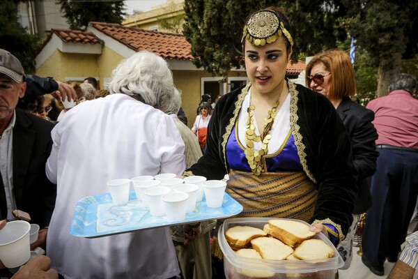
<path fill-rule="evenodd" d="M 56 199 L 56 185 L 47 179 L 45 164 L 52 149 L 54 124 L 16 109 L 13 127 L 13 190 L 17 209 L 31 216 L 31 223 L 46 227 Z M 1 219 L 7 216 L 6 194 L 0 179 Z"/>

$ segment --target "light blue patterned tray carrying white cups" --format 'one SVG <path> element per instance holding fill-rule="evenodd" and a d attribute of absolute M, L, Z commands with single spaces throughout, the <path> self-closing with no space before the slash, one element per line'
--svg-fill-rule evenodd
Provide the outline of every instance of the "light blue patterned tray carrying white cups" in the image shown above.
<path fill-rule="evenodd" d="M 153 217 L 149 208 L 130 191 L 127 204 L 116 205 L 110 193 L 84 197 L 77 202 L 70 226 L 70 234 L 86 238 L 123 234 L 139 229 L 166 227 L 210 219 L 228 218 L 242 211 L 242 205 L 225 193 L 224 203 L 217 209 L 206 206 L 206 199 L 196 202 L 196 209 L 186 213 L 181 222 L 169 222 L 166 216 Z"/>

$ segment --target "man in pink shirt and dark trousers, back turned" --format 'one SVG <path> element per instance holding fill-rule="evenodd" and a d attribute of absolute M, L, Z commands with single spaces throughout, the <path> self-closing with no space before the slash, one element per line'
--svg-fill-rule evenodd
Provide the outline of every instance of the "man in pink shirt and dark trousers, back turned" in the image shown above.
<path fill-rule="evenodd" d="M 383 276 L 387 259 L 396 262 L 418 196 L 418 100 L 414 75 L 401 74 L 389 85 L 387 96 L 367 105 L 375 113 L 379 152 L 371 179 L 373 205 L 367 211 L 362 262 Z"/>

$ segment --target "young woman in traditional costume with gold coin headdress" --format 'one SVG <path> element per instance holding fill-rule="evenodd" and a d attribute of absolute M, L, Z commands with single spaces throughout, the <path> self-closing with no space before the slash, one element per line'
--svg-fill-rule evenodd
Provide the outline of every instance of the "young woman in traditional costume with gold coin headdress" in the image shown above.
<path fill-rule="evenodd" d="M 282 10 L 251 15 L 241 42 L 249 83 L 219 100 L 205 154 L 184 175 L 229 174 L 240 217 L 304 220 L 339 243 L 357 193 L 346 128 L 324 96 L 285 77 L 293 38 Z"/>

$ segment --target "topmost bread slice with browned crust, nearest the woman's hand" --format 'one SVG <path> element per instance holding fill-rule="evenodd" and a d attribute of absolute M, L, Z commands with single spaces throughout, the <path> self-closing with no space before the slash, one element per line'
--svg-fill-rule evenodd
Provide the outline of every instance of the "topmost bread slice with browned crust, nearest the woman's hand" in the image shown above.
<path fill-rule="evenodd" d="M 302 241 L 311 239 L 315 232 L 309 230 L 309 225 L 294 220 L 272 219 L 268 220 L 272 236 L 277 237 L 288 246 L 296 247 Z"/>

